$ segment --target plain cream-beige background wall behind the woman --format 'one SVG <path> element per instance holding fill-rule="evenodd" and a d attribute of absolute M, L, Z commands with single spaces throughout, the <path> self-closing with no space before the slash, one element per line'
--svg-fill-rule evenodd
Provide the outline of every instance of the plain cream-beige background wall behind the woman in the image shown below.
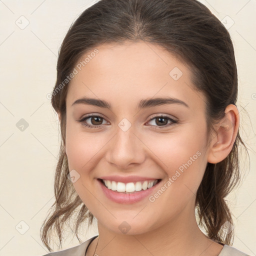
<path fill-rule="evenodd" d="M 235 48 L 240 130 L 251 161 L 250 166 L 243 161 L 244 178 L 227 199 L 235 228 L 232 246 L 256 255 L 256 0 L 201 2 L 225 23 Z M 39 228 L 54 202 L 60 142 L 47 94 L 54 86 L 61 41 L 71 22 L 92 3 L 0 0 L 0 256 L 47 252 Z M 90 230 L 85 224 L 80 237 L 86 240 L 95 234 L 96 224 Z M 77 244 L 68 236 L 62 249 Z"/>

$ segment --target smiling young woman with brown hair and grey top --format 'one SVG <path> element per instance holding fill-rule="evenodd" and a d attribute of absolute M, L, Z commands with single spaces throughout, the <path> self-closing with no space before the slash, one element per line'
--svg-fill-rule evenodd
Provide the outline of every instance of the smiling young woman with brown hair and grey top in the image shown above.
<path fill-rule="evenodd" d="M 41 238 L 51 250 L 54 227 L 61 244 L 77 210 L 76 237 L 93 218 L 99 235 L 47 255 L 245 255 L 225 201 L 244 146 L 236 99 L 229 33 L 200 2 L 100 0 L 82 12 L 58 56 L 62 141 Z"/>

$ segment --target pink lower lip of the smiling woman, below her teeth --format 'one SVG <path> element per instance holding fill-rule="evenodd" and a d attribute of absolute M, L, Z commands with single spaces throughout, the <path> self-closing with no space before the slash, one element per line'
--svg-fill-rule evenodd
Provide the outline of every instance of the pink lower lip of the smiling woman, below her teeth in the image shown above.
<path fill-rule="evenodd" d="M 107 198 L 109 198 L 110 200 L 117 202 L 117 203 L 134 203 L 134 202 L 138 202 L 142 199 L 144 199 L 146 196 L 149 196 L 152 191 L 158 187 L 160 182 L 156 183 L 154 186 L 146 189 L 146 190 L 140 190 L 134 193 L 129 193 L 129 194 L 125 194 L 122 192 L 117 192 L 116 190 L 113 191 L 111 189 L 108 189 L 99 179 L 97 179 L 97 181 L 99 182 L 99 185 L 101 187 L 101 189 L 103 190 L 104 194 L 106 195 Z"/>

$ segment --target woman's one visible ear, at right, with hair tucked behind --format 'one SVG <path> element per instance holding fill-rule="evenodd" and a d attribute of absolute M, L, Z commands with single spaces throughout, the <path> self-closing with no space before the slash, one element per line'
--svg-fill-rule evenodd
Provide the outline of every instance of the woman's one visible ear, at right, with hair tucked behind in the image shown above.
<path fill-rule="evenodd" d="M 216 135 L 213 136 L 207 161 L 217 163 L 222 161 L 232 149 L 239 127 L 239 112 L 235 105 L 225 108 L 225 116 L 215 124 Z"/>

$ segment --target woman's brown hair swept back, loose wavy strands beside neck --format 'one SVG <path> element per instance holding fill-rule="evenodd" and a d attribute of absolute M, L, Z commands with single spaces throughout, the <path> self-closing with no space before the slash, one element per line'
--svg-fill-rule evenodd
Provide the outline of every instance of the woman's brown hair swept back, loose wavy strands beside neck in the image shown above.
<path fill-rule="evenodd" d="M 41 239 L 49 246 L 52 230 L 61 245 L 63 225 L 79 209 L 75 217 L 75 235 L 84 220 L 88 226 L 93 215 L 82 202 L 70 180 L 65 153 L 66 77 L 77 61 L 103 43 L 139 41 L 164 47 L 192 73 L 196 90 L 206 97 L 207 132 L 224 117 L 228 104 L 237 100 L 237 70 L 230 35 L 207 7 L 196 0 L 99 0 L 85 9 L 70 26 L 58 54 L 57 79 L 51 103 L 61 114 L 61 145 L 56 166 L 55 202 L 41 226 Z M 64 86 L 60 86 L 65 81 Z M 61 88 L 61 89 L 59 89 Z M 208 136 L 209 137 L 209 136 Z M 232 217 L 225 197 L 240 180 L 238 144 L 244 143 L 239 131 L 228 156 L 218 163 L 207 163 L 196 193 L 195 207 L 206 235 L 219 243 L 230 245 L 233 231 L 223 233 L 221 226 Z M 246 147 L 245 147 L 246 149 Z M 246 149 L 247 152 L 247 149 Z"/>

